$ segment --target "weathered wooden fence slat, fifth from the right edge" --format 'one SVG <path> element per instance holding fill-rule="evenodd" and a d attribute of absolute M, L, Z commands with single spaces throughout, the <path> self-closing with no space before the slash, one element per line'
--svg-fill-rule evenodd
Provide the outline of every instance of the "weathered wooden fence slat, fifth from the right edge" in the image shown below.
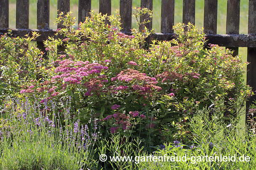
<path fill-rule="evenodd" d="M 162 0 L 161 33 L 174 33 L 174 2 L 175 0 Z"/>

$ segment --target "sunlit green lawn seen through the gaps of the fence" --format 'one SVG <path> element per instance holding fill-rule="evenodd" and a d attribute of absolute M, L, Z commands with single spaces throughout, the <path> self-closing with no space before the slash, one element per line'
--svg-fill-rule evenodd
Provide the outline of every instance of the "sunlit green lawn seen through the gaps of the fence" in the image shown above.
<path fill-rule="evenodd" d="M 15 28 L 16 21 L 16 0 L 10 0 L 10 28 Z M 37 15 L 37 0 L 30 0 L 30 25 L 31 29 L 36 28 Z M 247 34 L 248 26 L 248 4 L 249 0 L 241 0 L 240 7 L 240 34 Z M 70 10 L 74 12 L 74 16 L 78 18 L 78 0 L 70 0 Z M 98 12 L 98 0 L 92 0 L 92 10 Z M 140 0 L 133 0 L 133 6 L 140 6 Z M 218 24 L 217 33 L 225 34 L 226 30 L 226 0 L 218 1 Z M 196 26 L 203 27 L 203 8 L 204 0 L 196 0 Z M 112 14 L 116 9 L 119 9 L 119 0 L 112 0 Z M 153 28 L 155 32 L 160 32 L 160 18 L 161 18 L 161 1 L 153 0 Z M 53 24 L 57 17 L 57 0 L 50 0 L 50 28 L 56 29 L 57 26 Z M 182 0 L 175 1 L 175 23 L 182 22 Z M 135 26 L 133 19 L 133 27 Z M 244 61 L 247 58 L 247 48 L 239 48 L 239 54 L 242 55 Z M 244 76 L 246 79 L 246 75 Z"/>

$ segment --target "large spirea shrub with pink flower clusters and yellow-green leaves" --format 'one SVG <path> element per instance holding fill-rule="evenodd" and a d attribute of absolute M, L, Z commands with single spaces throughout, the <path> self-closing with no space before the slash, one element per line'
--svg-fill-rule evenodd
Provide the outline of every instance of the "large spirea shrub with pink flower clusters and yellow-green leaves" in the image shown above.
<path fill-rule="evenodd" d="M 135 11 L 136 18 L 150 13 Z M 242 79 L 247 63 L 218 45 L 204 47 L 203 29 L 190 23 L 174 26 L 175 39 L 158 41 L 150 39 L 153 31 L 147 28 L 122 33 L 118 14 L 92 12 L 77 29 L 73 20 L 72 13 L 56 20 L 63 24 L 57 34 L 64 38 L 44 42 L 50 62 L 29 43 L 37 34 L 26 39 L 1 36 L 5 94 L 35 95 L 42 102 L 71 96 L 72 114 L 77 117 L 79 110 L 85 124 L 97 120 L 103 136 L 130 134 L 150 145 L 189 136 L 186 122 L 203 107 L 214 109 L 219 121 L 228 123 L 253 95 Z M 65 51 L 57 53 L 59 45 Z M 16 61 L 20 55 L 28 59 Z M 64 109 L 61 104 L 55 108 Z"/>

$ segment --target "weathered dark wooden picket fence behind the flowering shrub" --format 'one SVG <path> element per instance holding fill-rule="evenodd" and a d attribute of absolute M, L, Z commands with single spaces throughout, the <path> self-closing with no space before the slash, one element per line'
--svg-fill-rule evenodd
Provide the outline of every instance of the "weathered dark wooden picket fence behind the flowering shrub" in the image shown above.
<path fill-rule="evenodd" d="M 16 0 L 16 29 L 12 29 L 15 36 L 31 35 L 33 31 L 38 32 L 36 41 L 38 47 L 45 52 L 43 40 L 48 36 L 55 36 L 56 30 L 49 29 L 49 1 L 37 1 L 37 29 L 28 29 L 29 23 L 29 0 Z M 161 0 L 161 33 L 151 35 L 157 40 L 171 40 L 174 38 L 174 1 Z M 207 44 L 218 44 L 234 50 L 234 55 L 238 54 L 238 47 L 247 48 L 247 85 L 256 90 L 256 0 L 249 0 L 249 22 L 248 34 L 239 34 L 240 0 L 227 0 L 226 34 L 217 34 L 217 6 L 218 0 L 204 0 L 204 32 L 207 33 Z M 111 14 L 111 0 L 99 0 L 99 12 Z M 141 0 L 141 7 L 153 9 L 153 0 Z M 195 0 L 183 0 L 183 23 L 195 23 Z M 58 0 L 58 13 L 70 11 L 70 0 Z M 91 0 L 79 0 L 78 22 L 85 21 L 91 10 Z M 129 32 L 132 27 L 132 0 L 120 0 L 120 15 L 122 27 L 125 32 Z M 143 18 L 142 18 L 143 19 Z M 58 25 L 58 28 L 61 26 Z M 152 21 L 146 25 L 152 28 Z M 0 2 L 0 32 L 7 32 L 9 28 L 9 0 Z M 61 47 L 59 47 L 61 49 Z M 249 106 L 256 99 L 256 95 L 246 102 Z M 256 116 L 256 115 L 254 115 Z M 246 120 L 248 118 L 246 117 Z"/>

